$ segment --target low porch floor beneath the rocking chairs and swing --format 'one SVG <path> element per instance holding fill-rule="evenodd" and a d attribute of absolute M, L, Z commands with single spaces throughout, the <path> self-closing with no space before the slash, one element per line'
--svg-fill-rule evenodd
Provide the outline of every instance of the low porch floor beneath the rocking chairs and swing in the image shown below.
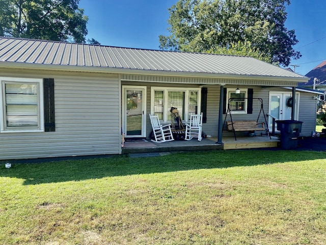
<path fill-rule="evenodd" d="M 201 150 L 234 150 L 252 148 L 274 148 L 278 146 L 278 138 L 266 136 L 223 137 L 223 144 L 216 143 L 217 137 L 203 138 L 198 141 L 192 140 L 173 140 L 164 143 L 156 143 L 150 140 L 135 142 L 125 142 L 122 154 L 127 153 L 147 153 L 147 152 L 171 152 L 171 151 L 201 151 Z"/>

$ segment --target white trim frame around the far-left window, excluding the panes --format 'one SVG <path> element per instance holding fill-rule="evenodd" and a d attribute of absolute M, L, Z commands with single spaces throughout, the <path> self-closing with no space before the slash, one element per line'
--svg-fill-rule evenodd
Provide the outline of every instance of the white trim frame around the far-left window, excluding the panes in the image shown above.
<path fill-rule="evenodd" d="M 38 88 L 38 126 L 37 127 L 7 127 L 5 84 L 36 84 Z M 43 79 L 0 77 L 0 133 L 44 132 L 44 101 Z"/>

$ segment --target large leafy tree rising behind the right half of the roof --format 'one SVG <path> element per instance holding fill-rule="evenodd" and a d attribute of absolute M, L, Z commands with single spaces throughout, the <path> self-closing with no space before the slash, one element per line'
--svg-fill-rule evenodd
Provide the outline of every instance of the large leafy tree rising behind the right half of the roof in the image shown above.
<path fill-rule="evenodd" d="M 294 30 L 284 26 L 289 4 L 290 0 L 179 0 L 169 9 L 171 35 L 160 35 L 159 47 L 214 53 L 240 48 L 243 53 L 243 47 L 250 46 L 249 53 L 287 66 L 291 58 L 301 57 L 292 49 L 298 42 Z"/>

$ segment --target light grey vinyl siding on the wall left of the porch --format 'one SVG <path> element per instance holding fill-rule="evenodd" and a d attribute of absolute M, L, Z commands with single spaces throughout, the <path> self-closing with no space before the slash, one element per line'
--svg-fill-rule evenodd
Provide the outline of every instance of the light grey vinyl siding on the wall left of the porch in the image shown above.
<path fill-rule="evenodd" d="M 0 134 L 0 159 L 119 154 L 119 94 L 118 77 L 55 78 L 56 131 Z"/>

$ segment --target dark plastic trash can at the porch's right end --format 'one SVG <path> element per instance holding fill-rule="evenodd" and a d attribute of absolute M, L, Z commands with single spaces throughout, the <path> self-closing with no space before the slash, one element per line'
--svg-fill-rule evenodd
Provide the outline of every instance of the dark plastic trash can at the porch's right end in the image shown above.
<path fill-rule="evenodd" d="M 296 120 L 276 120 L 277 130 L 280 131 L 280 140 L 282 149 L 297 148 L 297 141 L 301 133 L 303 121 Z"/>

